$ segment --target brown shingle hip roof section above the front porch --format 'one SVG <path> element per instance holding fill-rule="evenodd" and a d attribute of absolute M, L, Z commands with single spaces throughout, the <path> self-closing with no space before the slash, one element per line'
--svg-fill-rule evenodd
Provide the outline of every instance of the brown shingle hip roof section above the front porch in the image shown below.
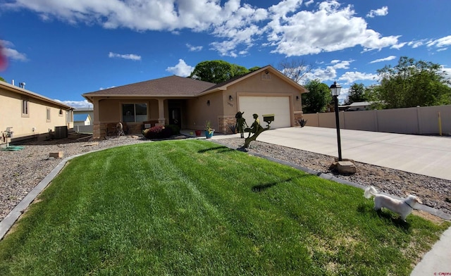
<path fill-rule="evenodd" d="M 89 92 L 83 96 L 195 96 L 214 85 L 216 84 L 174 75 Z"/>

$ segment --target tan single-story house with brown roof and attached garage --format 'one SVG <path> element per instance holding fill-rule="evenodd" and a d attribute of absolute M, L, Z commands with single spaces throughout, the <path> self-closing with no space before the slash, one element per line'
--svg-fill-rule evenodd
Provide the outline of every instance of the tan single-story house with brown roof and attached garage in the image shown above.
<path fill-rule="evenodd" d="M 161 77 L 82 94 L 94 105 L 93 137 L 107 136 L 117 123 L 128 133 L 140 133 L 144 124 L 178 125 L 203 130 L 206 121 L 219 133 L 231 133 L 235 114 L 245 112 L 247 124 L 274 114 L 272 128 L 298 125 L 302 118 L 301 94 L 307 92 L 271 65 L 221 84 L 187 77 Z M 261 119 L 261 125 L 266 126 Z"/>

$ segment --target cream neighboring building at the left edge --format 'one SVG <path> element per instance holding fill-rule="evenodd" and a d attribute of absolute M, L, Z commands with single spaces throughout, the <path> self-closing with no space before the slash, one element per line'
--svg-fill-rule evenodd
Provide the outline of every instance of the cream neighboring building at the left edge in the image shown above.
<path fill-rule="evenodd" d="M 73 108 L 0 81 L 0 144 L 73 127 Z M 7 134 L 9 133 L 9 134 Z M 5 139 L 9 136 L 11 139 Z M 7 141 L 8 140 L 8 141 Z"/>

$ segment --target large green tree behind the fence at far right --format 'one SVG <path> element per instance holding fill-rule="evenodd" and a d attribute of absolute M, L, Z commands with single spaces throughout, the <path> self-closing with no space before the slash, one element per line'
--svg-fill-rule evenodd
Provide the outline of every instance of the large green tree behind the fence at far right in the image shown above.
<path fill-rule="evenodd" d="M 385 108 L 440 106 L 451 103 L 450 81 L 439 64 L 402 56 L 395 67 L 377 70 L 381 83 L 373 98 Z"/>

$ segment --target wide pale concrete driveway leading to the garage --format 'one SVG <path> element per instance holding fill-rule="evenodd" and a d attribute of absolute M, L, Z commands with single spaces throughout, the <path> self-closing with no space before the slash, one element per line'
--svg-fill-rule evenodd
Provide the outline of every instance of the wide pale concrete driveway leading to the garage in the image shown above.
<path fill-rule="evenodd" d="M 340 130 L 340 137 L 342 158 L 451 180 L 451 137 L 361 130 Z M 335 128 L 279 128 L 261 133 L 257 140 L 338 156 Z"/>

